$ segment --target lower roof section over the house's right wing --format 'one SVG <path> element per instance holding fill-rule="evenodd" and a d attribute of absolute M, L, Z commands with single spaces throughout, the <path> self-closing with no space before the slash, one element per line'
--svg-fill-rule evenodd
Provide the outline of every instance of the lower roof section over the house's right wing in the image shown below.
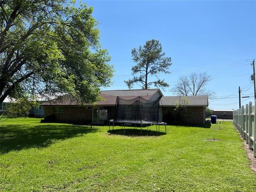
<path fill-rule="evenodd" d="M 186 98 L 186 99 L 185 99 Z M 208 97 L 205 95 L 196 96 L 165 96 L 161 99 L 162 106 L 176 106 L 183 104 L 186 106 L 208 106 Z"/>

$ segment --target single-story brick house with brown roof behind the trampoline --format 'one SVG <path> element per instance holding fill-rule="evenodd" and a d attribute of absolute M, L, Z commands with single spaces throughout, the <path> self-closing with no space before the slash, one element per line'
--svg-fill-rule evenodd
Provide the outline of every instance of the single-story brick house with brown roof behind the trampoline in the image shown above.
<path fill-rule="evenodd" d="M 164 97 L 159 89 L 148 90 L 113 90 L 101 91 L 103 101 L 96 105 L 81 104 L 68 95 L 61 97 L 61 100 L 44 102 L 42 106 L 45 111 L 46 121 L 82 123 L 82 124 L 108 124 L 109 119 L 115 118 L 116 98 L 134 99 L 141 96 L 147 100 L 155 100 L 162 97 L 159 110 L 159 119 L 168 124 L 181 123 L 177 114 L 180 111 L 174 110 L 180 103 L 183 105 L 184 97 Z M 205 107 L 208 106 L 206 96 L 186 97 L 186 109 L 183 111 L 182 123 L 202 125 L 205 123 Z M 171 121 L 170 121 L 171 120 Z"/>

